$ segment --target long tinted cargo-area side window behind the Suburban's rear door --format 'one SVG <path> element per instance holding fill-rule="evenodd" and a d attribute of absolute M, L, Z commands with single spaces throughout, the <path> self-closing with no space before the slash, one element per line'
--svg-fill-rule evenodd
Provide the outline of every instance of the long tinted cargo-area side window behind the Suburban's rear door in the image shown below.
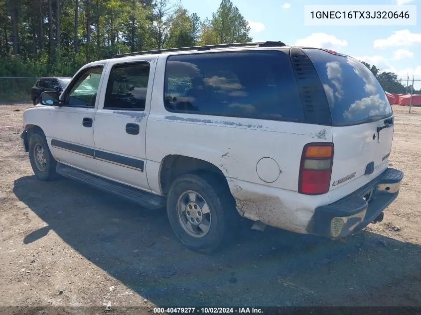
<path fill-rule="evenodd" d="M 164 102 L 173 112 L 304 120 L 289 56 L 281 51 L 169 56 Z"/>

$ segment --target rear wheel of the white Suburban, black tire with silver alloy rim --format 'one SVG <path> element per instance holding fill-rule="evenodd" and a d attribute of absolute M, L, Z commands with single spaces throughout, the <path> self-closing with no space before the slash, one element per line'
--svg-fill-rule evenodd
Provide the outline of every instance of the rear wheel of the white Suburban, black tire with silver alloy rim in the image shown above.
<path fill-rule="evenodd" d="M 168 191 L 167 214 L 177 238 L 203 253 L 229 241 L 239 217 L 228 185 L 210 173 L 176 178 Z"/>

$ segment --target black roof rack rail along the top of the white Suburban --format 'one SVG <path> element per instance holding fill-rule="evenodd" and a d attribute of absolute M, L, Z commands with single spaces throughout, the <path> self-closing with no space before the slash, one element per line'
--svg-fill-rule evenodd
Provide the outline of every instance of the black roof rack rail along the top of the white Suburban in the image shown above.
<path fill-rule="evenodd" d="M 231 47 L 248 47 L 248 46 L 258 46 L 258 47 L 282 47 L 285 46 L 281 41 L 266 41 L 266 42 L 256 42 L 256 43 L 233 43 L 233 44 L 219 44 L 219 45 L 207 45 L 207 46 L 193 46 L 193 47 L 180 47 L 180 48 L 169 48 L 169 49 L 158 49 L 158 50 L 148 50 L 148 51 L 139 51 L 127 54 L 118 54 L 113 56 L 113 58 L 122 58 L 138 55 L 153 55 L 160 54 L 165 52 L 176 52 L 176 51 L 204 51 L 218 48 L 231 48 Z"/>

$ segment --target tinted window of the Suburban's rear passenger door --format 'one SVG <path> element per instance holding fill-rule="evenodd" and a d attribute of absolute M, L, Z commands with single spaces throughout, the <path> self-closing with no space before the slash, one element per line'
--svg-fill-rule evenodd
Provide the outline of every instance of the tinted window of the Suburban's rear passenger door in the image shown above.
<path fill-rule="evenodd" d="M 115 65 L 107 84 L 104 108 L 144 110 L 149 64 Z"/>

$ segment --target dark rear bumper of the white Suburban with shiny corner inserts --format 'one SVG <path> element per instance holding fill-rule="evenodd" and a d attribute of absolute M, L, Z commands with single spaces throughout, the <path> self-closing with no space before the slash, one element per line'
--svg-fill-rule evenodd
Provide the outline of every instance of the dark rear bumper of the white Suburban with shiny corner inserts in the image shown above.
<path fill-rule="evenodd" d="M 307 227 L 308 233 L 337 239 L 363 229 L 398 197 L 403 177 L 401 171 L 388 168 L 354 193 L 317 207 Z"/>

